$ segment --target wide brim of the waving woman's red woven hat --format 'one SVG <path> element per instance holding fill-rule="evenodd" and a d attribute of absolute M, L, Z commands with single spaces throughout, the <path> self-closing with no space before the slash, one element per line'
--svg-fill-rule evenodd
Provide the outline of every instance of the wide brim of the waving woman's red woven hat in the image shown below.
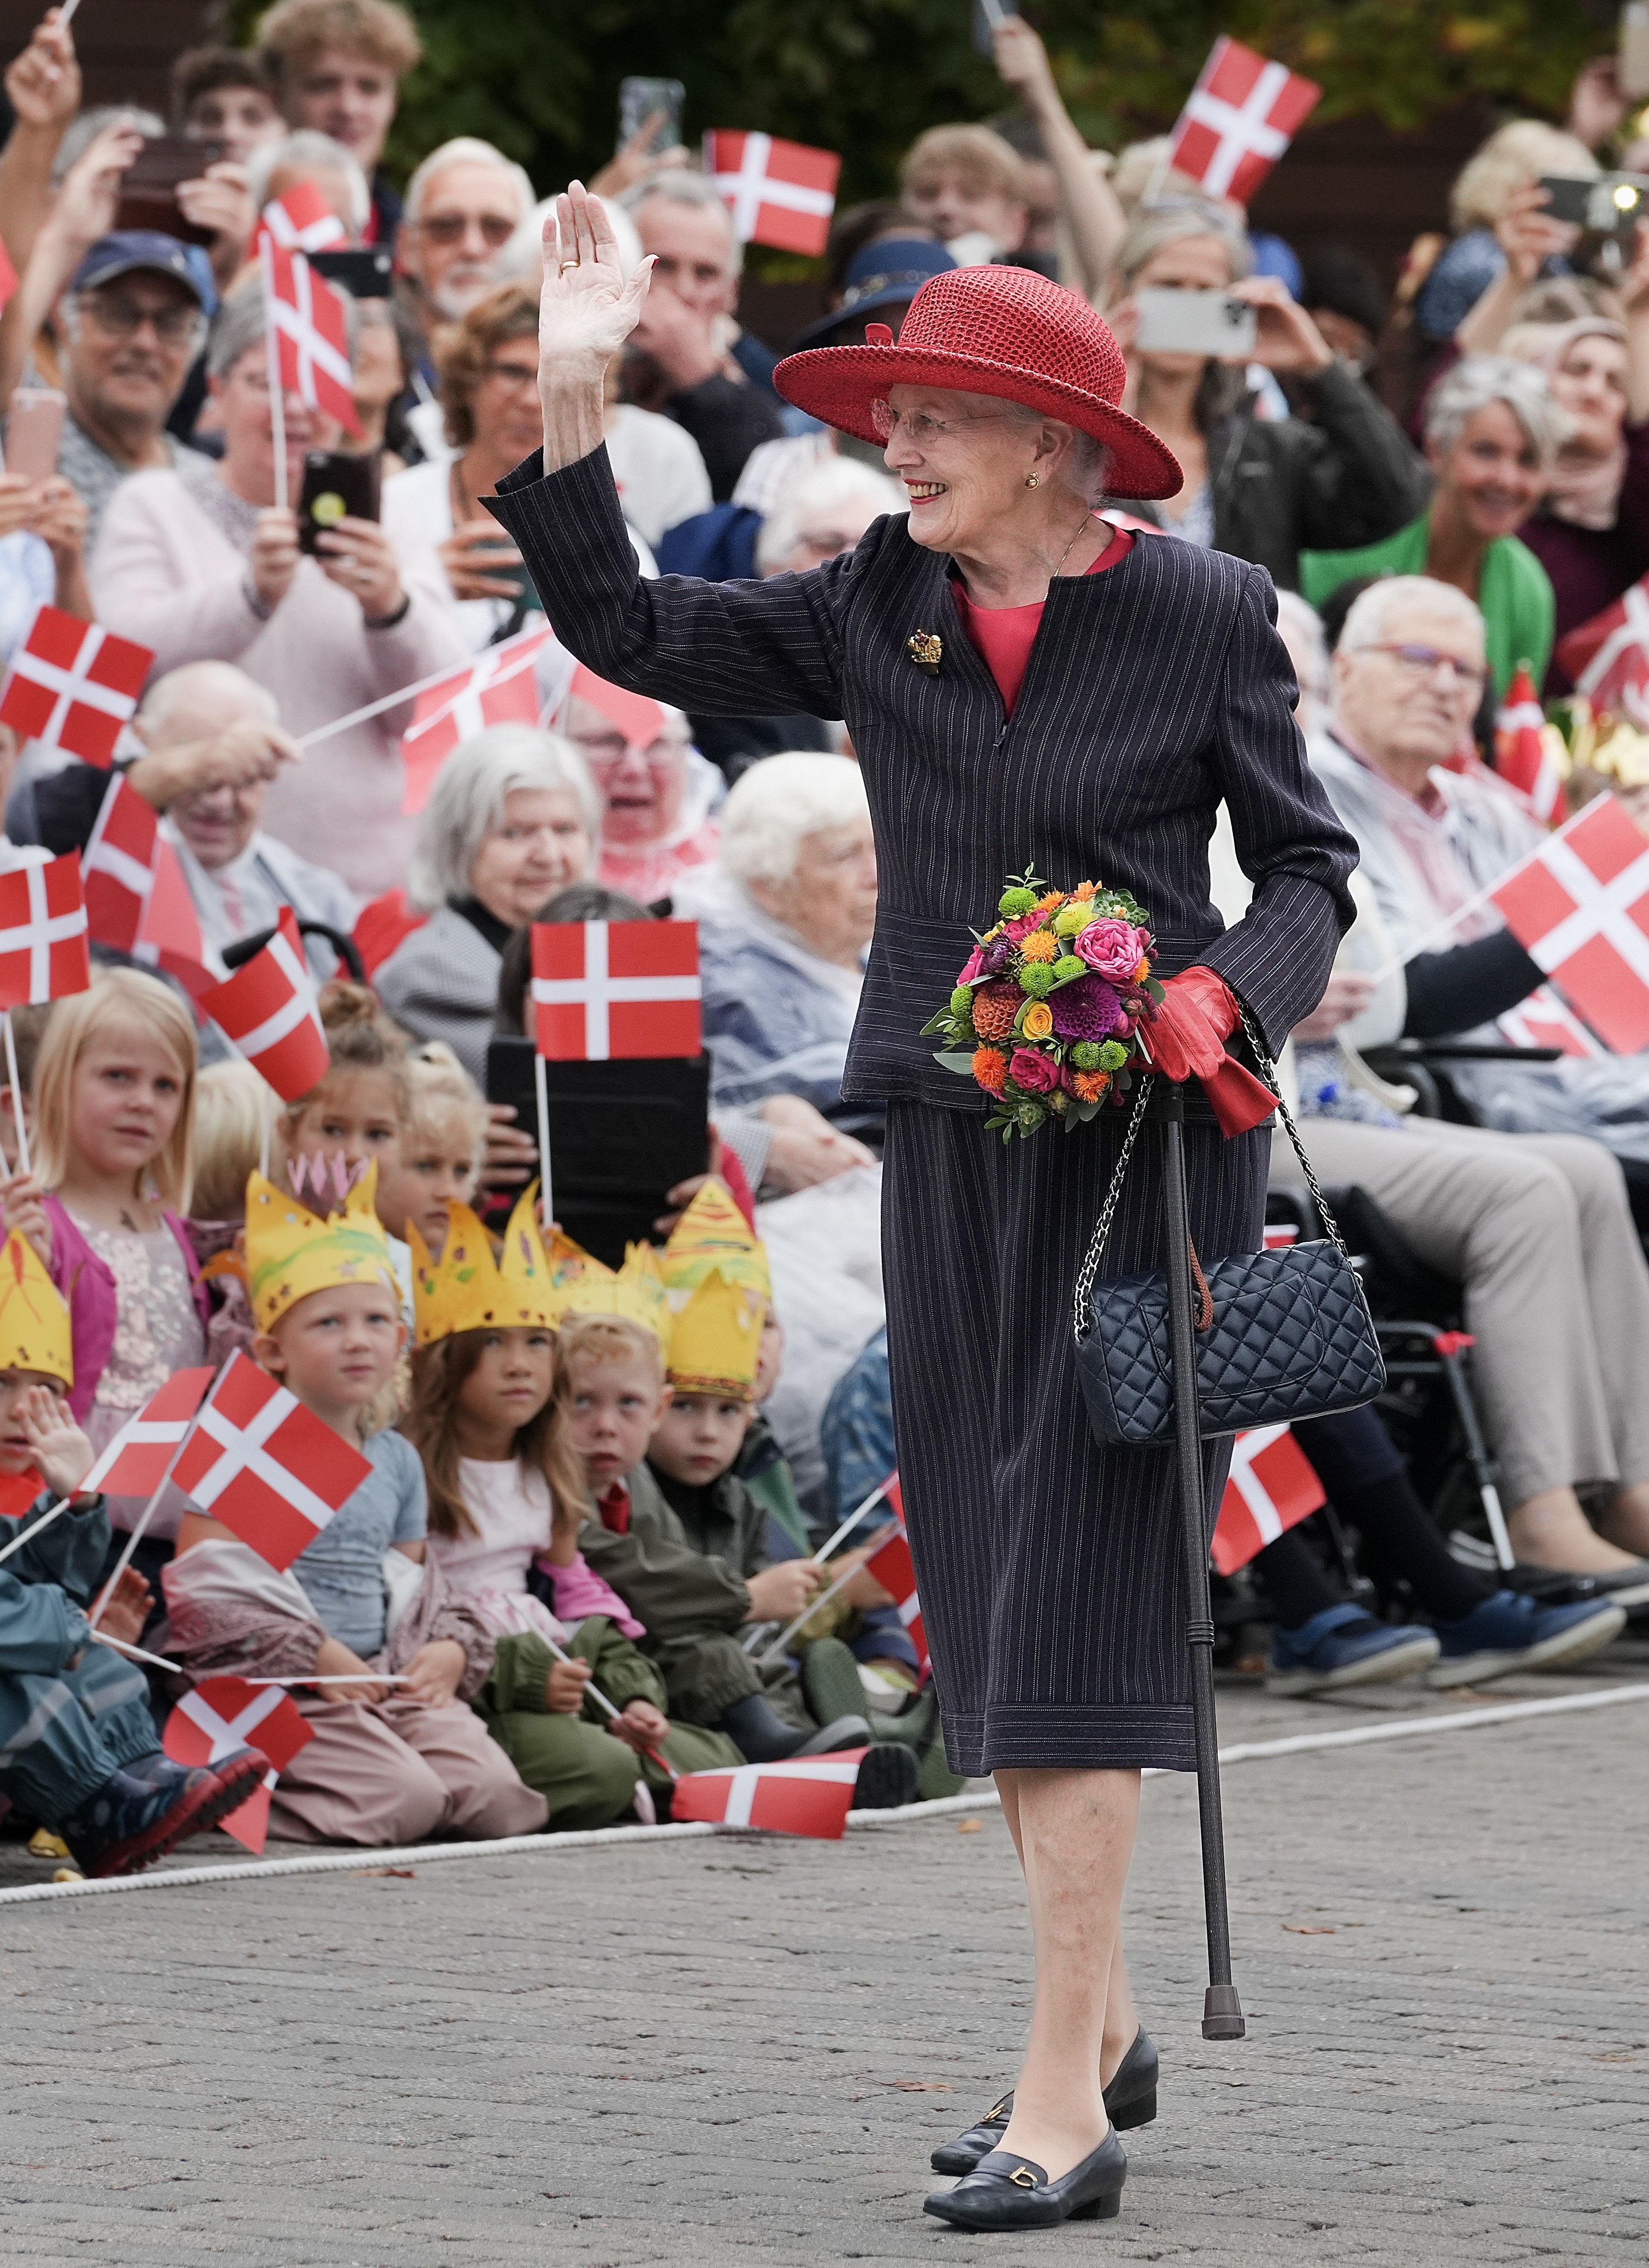
<path fill-rule="evenodd" d="M 855 311 L 857 313 L 857 311 Z M 941 347 L 810 347 L 787 354 L 773 370 L 773 386 L 810 417 L 853 433 L 855 440 L 880 440 L 871 401 L 885 399 L 891 386 L 941 386 L 959 395 L 1000 395 L 1023 401 L 1043 417 L 1093 433 L 1111 451 L 1105 488 L 1114 497 L 1177 497 L 1184 472 L 1173 449 L 1166 449 L 1150 426 L 1111 401 L 1064 386 L 1041 370 L 1021 370 L 982 354 L 950 354 Z"/>

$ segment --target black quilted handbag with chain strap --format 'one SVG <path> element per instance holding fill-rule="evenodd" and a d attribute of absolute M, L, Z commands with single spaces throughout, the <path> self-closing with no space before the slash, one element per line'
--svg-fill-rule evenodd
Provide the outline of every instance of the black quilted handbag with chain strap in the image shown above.
<path fill-rule="evenodd" d="M 1248 1016 L 1243 1025 L 1254 1059 L 1275 1091 L 1275 1064 L 1266 1059 Z M 1116 1173 L 1075 1284 L 1077 1377 L 1089 1404 L 1089 1424 L 1098 1440 L 1118 1449 L 1150 1449 L 1173 1440 L 1168 1279 L 1161 1270 L 1152 1270 L 1096 1284 L 1150 1086 L 1150 1077 L 1141 1080 Z M 1329 1241 L 1286 1245 L 1279 1252 L 1234 1252 L 1214 1263 L 1207 1284 L 1195 1250 L 1191 1252 L 1193 1277 L 1202 1293 L 1198 1417 L 1204 1440 L 1257 1424 L 1354 1411 L 1372 1402 L 1386 1383 L 1363 1286 L 1322 1202 L 1300 1129 L 1282 1095 L 1277 1109 Z"/>

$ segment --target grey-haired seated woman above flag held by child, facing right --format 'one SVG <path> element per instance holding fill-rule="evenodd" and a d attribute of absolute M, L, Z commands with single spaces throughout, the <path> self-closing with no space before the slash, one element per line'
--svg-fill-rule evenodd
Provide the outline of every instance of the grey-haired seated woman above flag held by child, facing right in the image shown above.
<path fill-rule="evenodd" d="M 445 1039 L 485 1086 L 510 932 L 594 864 L 601 803 L 556 733 L 494 723 L 451 751 L 417 821 L 408 896 L 429 914 L 377 973 L 415 1039 Z"/>

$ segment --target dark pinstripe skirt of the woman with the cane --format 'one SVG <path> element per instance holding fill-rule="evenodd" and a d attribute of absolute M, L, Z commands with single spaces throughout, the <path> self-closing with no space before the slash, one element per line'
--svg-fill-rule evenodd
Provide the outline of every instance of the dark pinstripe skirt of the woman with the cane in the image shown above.
<path fill-rule="evenodd" d="M 1105 1275 L 1164 1263 L 1161 1143 L 1141 1132 Z M 1118 1148 L 1111 1118 L 1005 1145 L 982 1111 L 887 1111 L 894 1427 L 953 1771 L 1193 1769 L 1175 1456 L 1102 1449 L 1073 1359 Z M 1186 1125 L 1204 1263 L 1259 1247 L 1266 1154 L 1266 1132 Z M 1229 1440 L 1207 1442 L 1209 1529 L 1227 1465 Z"/>

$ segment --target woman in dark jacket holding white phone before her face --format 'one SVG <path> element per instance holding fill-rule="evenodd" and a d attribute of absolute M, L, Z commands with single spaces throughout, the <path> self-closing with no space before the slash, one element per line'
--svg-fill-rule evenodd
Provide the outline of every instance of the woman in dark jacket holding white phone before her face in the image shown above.
<path fill-rule="evenodd" d="M 1248 238 L 1220 209 L 1143 206 L 1116 256 L 1107 322 L 1127 358 L 1127 408 L 1184 467 L 1184 488 L 1141 510 L 1297 590 L 1302 549 L 1393 535 L 1424 508 L 1427 472 L 1288 288 L 1250 265 Z M 1313 422 L 1259 417 L 1250 363 L 1291 372 Z"/>

